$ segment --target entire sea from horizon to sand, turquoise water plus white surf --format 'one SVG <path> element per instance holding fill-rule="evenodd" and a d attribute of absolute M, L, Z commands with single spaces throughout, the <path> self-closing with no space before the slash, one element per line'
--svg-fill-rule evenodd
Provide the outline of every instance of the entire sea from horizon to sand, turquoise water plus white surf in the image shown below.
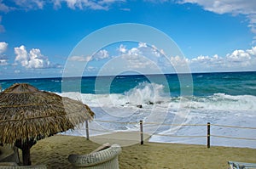
<path fill-rule="evenodd" d="M 17 82 L 30 83 L 40 90 L 83 101 L 95 111 L 96 120 L 127 122 L 127 125 L 103 122 L 91 124 L 96 129 L 135 131 L 139 126 L 128 122 L 140 120 L 164 124 L 211 122 L 218 125 L 256 127 L 256 72 L 195 73 L 190 76 L 192 81 L 188 80 L 189 76 L 172 74 L 65 79 L 58 77 L 0 80 L 0 84 L 4 90 Z M 142 108 L 137 105 L 142 105 Z M 146 126 L 145 131 L 161 135 L 206 135 L 206 128 L 200 126 Z M 212 137 L 213 145 L 256 148 L 256 141 L 253 140 L 256 139 L 254 129 L 213 126 L 211 132 L 218 136 L 250 138 L 245 140 Z M 103 132 L 90 133 L 96 135 Z M 68 134 L 84 135 L 84 132 L 77 130 Z M 206 144 L 207 139 L 153 135 L 149 141 Z"/>

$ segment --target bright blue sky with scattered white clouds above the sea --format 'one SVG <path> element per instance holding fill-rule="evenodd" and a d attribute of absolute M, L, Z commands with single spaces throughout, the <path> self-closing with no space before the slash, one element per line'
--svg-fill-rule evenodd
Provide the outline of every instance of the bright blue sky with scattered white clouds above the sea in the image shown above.
<path fill-rule="evenodd" d="M 152 62 L 163 73 L 183 64 L 192 72 L 256 70 L 255 11 L 252 0 L 0 0 L 0 79 L 62 76 L 67 60 L 88 63 L 84 76 L 92 76 L 118 56 L 145 73 L 154 73 Z M 122 23 L 164 32 L 185 58 L 145 42 L 72 55 L 84 37 Z"/>

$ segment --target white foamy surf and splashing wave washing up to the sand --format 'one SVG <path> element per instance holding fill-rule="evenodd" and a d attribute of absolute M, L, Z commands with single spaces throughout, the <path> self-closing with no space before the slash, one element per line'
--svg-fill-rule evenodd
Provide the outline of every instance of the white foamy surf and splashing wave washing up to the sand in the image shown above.
<path fill-rule="evenodd" d="M 90 123 L 90 128 L 98 131 L 91 130 L 91 135 L 104 134 L 109 131 L 139 131 L 138 121 L 143 120 L 145 123 L 144 131 L 152 135 L 149 139 L 151 142 L 206 144 L 207 122 L 225 126 L 256 127 L 253 120 L 256 118 L 255 96 L 232 96 L 225 93 L 215 93 L 211 96 L 194 96 L 184 99 L 186 97 L 183 96 L 166 97 L 163 90 L 164 87 L 160 84 L 143 82 L 125 93 L 61 93 L 61 95 L 72 99 L 81 99 L 96 113 L 96 121 Z M 138 108 L 138 104 L 142 107 Z M 187 113 L 183 114 L 182 111 Z M 171 125 L 176 121 L 181 121 L 181 126 L 166 125 Z M 134 124 L 136 122 L 137 124 Z M 147 125 L 147 122 L 154 122 L 158 125 Z M 182 126 L 184 124 L 205 124 L 205 126 Z M 101 130 L 108 132 L 99 132 Z M 256 130 L 247 130 L 213 126 L 211 132 L 212 135 L 218 136 L 256 138 Z M 85 136 L 83 127 L 67 133 Z M 155 133 L 160 135 L 172 134 L 177 137 L 154 135 Z M 212 145 L 256 148 L 256 142 L 252 140 L 218 137 L 212 137 Z"/>

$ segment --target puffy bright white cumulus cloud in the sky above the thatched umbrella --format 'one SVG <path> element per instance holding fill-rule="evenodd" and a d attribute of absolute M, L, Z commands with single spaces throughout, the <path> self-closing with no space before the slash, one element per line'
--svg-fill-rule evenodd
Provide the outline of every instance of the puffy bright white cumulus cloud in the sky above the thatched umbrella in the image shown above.
<path fill-rule="evenodd" d="M 15 63 L 20 64 L 27 69 L 43 69 L 50 68 L 53 65 L 50 64 L 49 59 L 41 54 L 40 49 L 32 48 L 29 53 L 27 53 L 24 45 L 15 48 Z"/>

